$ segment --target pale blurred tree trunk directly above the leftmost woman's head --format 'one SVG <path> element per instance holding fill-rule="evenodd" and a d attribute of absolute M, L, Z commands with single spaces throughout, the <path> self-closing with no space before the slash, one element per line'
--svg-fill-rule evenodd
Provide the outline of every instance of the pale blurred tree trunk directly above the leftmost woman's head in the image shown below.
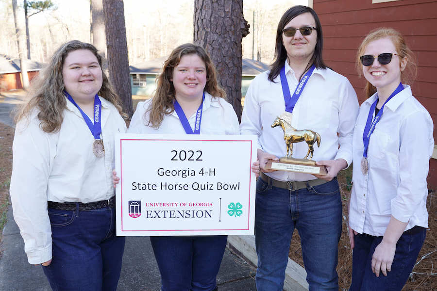
<path fill-rule="evenodd" d="M 106 58 L 105 21 L 103 16 L 102 0 L 91 0 L 91 34 L 93 45 Z"/>

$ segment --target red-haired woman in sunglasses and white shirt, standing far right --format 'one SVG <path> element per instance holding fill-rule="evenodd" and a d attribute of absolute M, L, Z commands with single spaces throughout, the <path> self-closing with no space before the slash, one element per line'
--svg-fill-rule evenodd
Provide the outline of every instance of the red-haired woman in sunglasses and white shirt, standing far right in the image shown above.
<path fill-rule="evenodd" d="M 401 33 L 370 32 L 358 49 L 357 69 L 368 81 L 369 98 L 353 133 L 350 290 L 400 291 L 428 227 L 433 122 L 406 85 L 417 69 Z"/>

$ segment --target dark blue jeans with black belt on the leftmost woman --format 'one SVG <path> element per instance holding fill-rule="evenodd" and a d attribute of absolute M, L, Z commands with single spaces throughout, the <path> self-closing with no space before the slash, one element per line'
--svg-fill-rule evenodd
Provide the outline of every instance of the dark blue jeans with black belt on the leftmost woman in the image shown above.
<path fill-rule="evenodd" d="M 124 237 L 115 235 L 115 209 L 49 209 L 52 261 L 42 267 L 53 291 L 115 291 Z"/>

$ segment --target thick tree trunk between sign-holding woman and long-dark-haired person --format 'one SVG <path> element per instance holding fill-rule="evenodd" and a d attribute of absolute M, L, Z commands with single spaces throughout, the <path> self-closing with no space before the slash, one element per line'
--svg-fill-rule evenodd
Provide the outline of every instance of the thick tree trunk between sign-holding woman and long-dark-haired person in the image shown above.
<path fill-rule="evenodd" d="M 195 0 L 194 43 L 211 56 L 227 101 L 241 119 L 241 39 L 249 33 L 243 0 Z"/>

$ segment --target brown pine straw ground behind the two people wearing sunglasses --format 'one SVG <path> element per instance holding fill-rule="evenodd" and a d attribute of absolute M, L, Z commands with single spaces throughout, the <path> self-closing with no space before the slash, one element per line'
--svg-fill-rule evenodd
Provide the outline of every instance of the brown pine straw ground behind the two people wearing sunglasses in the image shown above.
<path fill-rule="evenodd" d="M 352 169 L 342 171 L 338 176 L 341 197 L 343 201 L 343 229 L 338 243 L 338 284 L 340 291 L 349 290 L 352 277 L 352 250 L 349 243 L 348 226 L 346 221 L 347 205 L 351 194 Z M 429 229 L 426 240 L 420 251 L 413 272 L 403 291 L 436 291 L 437 290 L 437 193 L 429 191 L 427 209 L 429 213 Z M 295 230 L 290 245 L 288 257 L 303 266 L 300 237 Z M 436 263 L 436 268 L 434 268 Z"/>

